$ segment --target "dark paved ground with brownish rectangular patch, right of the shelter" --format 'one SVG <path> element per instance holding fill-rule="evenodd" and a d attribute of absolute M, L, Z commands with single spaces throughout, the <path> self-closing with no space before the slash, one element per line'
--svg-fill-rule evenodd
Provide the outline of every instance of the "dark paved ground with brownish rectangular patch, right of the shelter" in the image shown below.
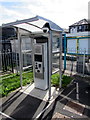
<path fill-rule="evenodd" d="M 79 99 L 76 95 L 76 82 L 79 86 Z M 47 112 L 48 111 L 48 112 Z M 49 120 L 60 114 L 65 120 L 90 120 L 90 79 L 74 76 L 74 81 L 57 97 L 41 119 Z M 58 117 L 56 117 L 58 118 Z M 68 119 L 68 118 L 67 118 Z"/>

